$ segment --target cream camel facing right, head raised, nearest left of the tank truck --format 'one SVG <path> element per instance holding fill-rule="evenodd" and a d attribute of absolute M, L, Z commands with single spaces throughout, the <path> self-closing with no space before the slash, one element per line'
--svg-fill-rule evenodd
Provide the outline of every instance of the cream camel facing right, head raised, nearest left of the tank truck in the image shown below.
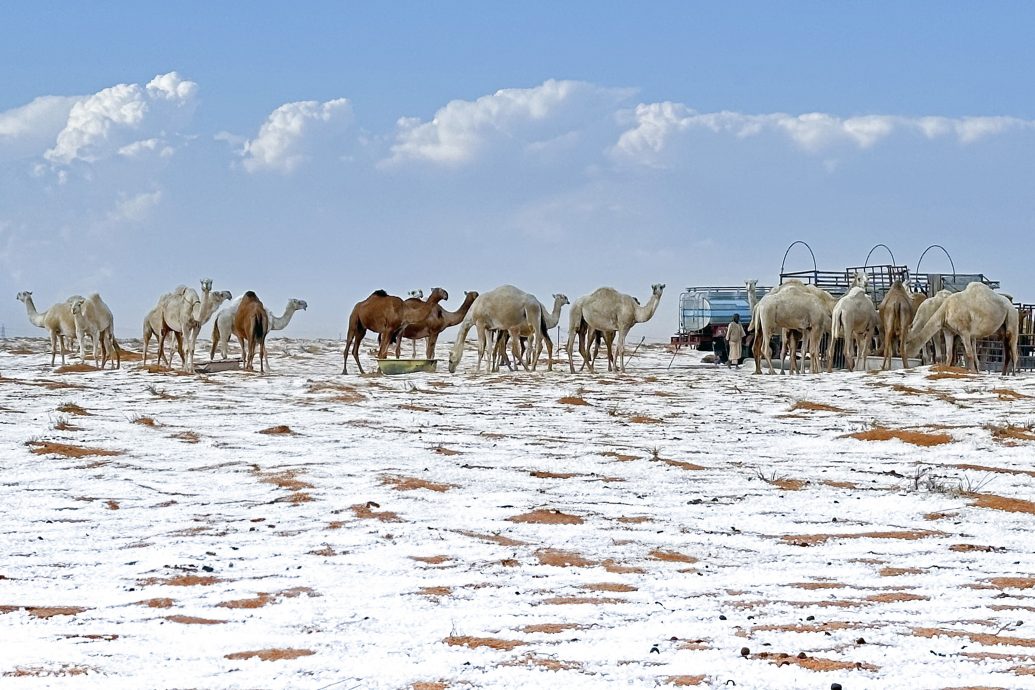
<path fill-rule="evenodd" d="M 664 292 L 663 283 L 651 286 L 651 297 L 647 304 L 641 306 L 631 295 L 623 295 L 614 288 L 598 288 L 589 295 L 582 298 L 579 308 L 579 318 L 586 322 L 588 331 L 601 331 L 604 333 L 604 340 L 609 340 L 608 334 L 615 332 L 618 339 L 618 347 L 615 349 L 614 358 L 617 371 L 625 371 L 625 337 L 629 330 L 637 324 L 642 324 L 651 320 L 657 311 L 657 305 L 661 301 L 661 293 Z M 575 319 L 575 309 L 571 310 L 569 319 Z M 576 326 L 576 331 L 579 327 Z M 574 344 L 575 331 L 568 331 L 568 367 L 574 372 L 571 349 Z M 580 338 L 581 339 L 581 338 Z M 612 340 L 614 337 L 611 338 Z M 609 357 L 611 357 L 611 342 L 608 343 Z M 583 356 L 583 361 L 593 371 L 593 362 L 589 353 L 582 348 L 580 342 L 579 353 Z"/>

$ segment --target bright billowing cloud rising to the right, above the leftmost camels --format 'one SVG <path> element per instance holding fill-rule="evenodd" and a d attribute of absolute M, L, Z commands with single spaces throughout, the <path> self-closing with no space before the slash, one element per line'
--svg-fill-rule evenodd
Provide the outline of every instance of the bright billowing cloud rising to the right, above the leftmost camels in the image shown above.
<path fill-rule="evenodd" d="M 149 140 L 186 124 L 197 107 L 197 94 L 198 85 L 175 71 L 158 74 L 144 86 L 117 84 L 102 89 L 76 101 L 45 157 L 55 166 L 67 166 L 115 154 L 139 155 Z"/>

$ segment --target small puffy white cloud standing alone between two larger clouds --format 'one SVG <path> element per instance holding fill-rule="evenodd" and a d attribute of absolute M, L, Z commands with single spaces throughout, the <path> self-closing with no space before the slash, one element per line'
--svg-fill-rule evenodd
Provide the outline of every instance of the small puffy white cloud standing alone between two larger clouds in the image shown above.
<path fill-rule="evenodd" d="M 244 143 L 244 170 L 290 173 L 305 160 L 317 140 L 341 133 L 352 123 L 347 98 L 285 103 L 270 113 L 259 136 Z M 230 141 L 229 137 L 223 139 Z"/>

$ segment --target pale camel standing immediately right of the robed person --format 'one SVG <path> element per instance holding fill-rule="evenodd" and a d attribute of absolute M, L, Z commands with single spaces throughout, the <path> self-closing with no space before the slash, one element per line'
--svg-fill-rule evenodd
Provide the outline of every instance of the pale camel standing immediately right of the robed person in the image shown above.
<path fill-rule="evenodd" d="M 831 323 L 835 304 L 836 301 L 829 293 L 815 286 L 806 286 L 800 280 L 791 279 L 770 290 L 769 294 L 759 300 L 751 319 L 755 330 L 755 373 L 762 373 L 763 354 L 769 364 L 769 373 L 775 373 L 768 346 L 776 329 L 785 333 L 785 347 L 791 346 L 793 370 L 797 371 L 795 339 L 800 333 L 802 340 L 808 342 L 811 371 L 817 372 L 820 340 Z M 780 357 L 782 358 L 782 353 Z M 786 371 L 781 368 L 780 373 Z"/>

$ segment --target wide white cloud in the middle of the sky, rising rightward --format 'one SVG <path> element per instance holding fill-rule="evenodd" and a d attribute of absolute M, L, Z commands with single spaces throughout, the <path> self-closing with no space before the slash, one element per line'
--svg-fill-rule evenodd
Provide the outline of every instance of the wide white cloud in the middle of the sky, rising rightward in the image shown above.
<path fill-rule="evenodd" d="M 544 143 L 565 141 L 588 121 L 610 117 L 629 95 L 627 89 L 549 80 L 529 89 L 502 89 L 476 100 L 452 100 L 427 122 L 401 118 L 388 162 L 457 166 L 500 143 L 535 151 Z"/>

